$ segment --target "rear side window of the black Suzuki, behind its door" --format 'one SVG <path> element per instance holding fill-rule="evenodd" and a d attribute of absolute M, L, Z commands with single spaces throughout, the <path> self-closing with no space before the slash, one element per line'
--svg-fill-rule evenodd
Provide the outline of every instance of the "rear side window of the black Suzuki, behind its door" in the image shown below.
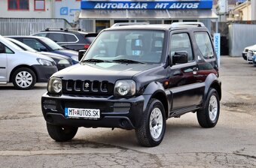
<path fill-rule="evenodd" d="M 203 58 L 209 59 L 214 57 L 214 51 L 212 48 L 211 39 L 207 32 L 196 32 L 195 33 L 197 46 L 203 55 Z"/>

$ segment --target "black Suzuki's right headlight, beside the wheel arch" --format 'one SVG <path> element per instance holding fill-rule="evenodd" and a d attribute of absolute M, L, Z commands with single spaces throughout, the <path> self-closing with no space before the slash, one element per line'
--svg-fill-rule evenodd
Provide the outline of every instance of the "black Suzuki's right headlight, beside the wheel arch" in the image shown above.
<path fill-rule="evenodd" d="M 136 83 L 133 80 L 117 80 L 114 85 L 115 96 L 132 96 L 136 93 Z"/>

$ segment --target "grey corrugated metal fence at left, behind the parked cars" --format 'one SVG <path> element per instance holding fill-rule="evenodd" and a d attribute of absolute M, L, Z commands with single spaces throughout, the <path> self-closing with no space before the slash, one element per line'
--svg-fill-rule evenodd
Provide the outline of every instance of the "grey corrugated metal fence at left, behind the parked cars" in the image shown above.
<path fill-rule="evenodd" d="M 0 35 L 29 35 L 45 28 L 69 28 L 64 19 L 0 18 Z"/>

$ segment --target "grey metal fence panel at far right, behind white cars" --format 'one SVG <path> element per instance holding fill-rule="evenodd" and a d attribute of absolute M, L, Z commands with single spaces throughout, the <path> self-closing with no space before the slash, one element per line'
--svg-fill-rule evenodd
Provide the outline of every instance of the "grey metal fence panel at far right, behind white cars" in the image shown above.
<path fill-rule="evenodd" d="M 229 31 L 229 54 L 230 56 L 241 56 L 245 46 L 256 43 L 256 25 L 230 24 Z"/>

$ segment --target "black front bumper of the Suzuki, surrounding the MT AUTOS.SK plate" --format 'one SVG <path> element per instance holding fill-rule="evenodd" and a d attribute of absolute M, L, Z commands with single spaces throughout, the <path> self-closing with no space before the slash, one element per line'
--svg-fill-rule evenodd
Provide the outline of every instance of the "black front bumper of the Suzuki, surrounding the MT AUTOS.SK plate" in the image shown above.
<path fill-rule="evenodd" d="M 148 97 L 148 96 L 146 96 Z M 148 98 L 146 98 L 148 99 Z M 73 127 L 139 127 L 143 115 L 145 96 L 136 98 L 96 98 L 61 95 L 53 97 L 45 93 L 41 98 L 44 119 L 49 124 Z M 99 119 L 66 118 L 65 108 L 99 109 Z"/>

